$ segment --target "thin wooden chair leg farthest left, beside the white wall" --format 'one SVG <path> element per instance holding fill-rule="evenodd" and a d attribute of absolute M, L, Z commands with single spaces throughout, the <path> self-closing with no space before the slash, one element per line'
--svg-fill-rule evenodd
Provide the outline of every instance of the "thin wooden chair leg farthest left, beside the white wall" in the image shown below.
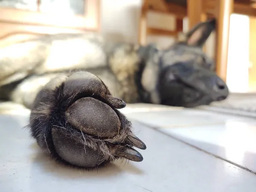
<path fill-rule="evenodd" d="M 143 3 L 141 14 L 140 14 L 140 31 L 139 31 L 139 44 L 146 45 L 147 41 L 147 12 L 148 6 L 146 2 Z"/>

